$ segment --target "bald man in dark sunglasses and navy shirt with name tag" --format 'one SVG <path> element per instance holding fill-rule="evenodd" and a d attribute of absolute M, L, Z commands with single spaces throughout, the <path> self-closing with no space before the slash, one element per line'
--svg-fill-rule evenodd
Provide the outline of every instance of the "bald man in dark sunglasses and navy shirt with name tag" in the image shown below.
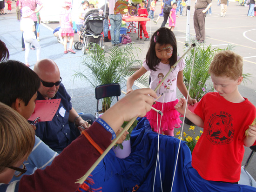
<path fill-rule="evenodd" d="M 87 129 L 96 119 L 92 114 L 81 116 L 74 110 L 70 102 L 71 98 L 64 85 L 61 83 L 60 70 L 53 60 L 44 59 L 34 66 L 34 72 L 40 78 L 40 88 L 37 100 L 61 99 L 61 104 L 52 121 L 39 122 L 36 126 L 36 135 L 56 152 L 62 152 L 76 137 L 80 131 Z M 78 128 L 76 128 L 78 127 Z"/>

